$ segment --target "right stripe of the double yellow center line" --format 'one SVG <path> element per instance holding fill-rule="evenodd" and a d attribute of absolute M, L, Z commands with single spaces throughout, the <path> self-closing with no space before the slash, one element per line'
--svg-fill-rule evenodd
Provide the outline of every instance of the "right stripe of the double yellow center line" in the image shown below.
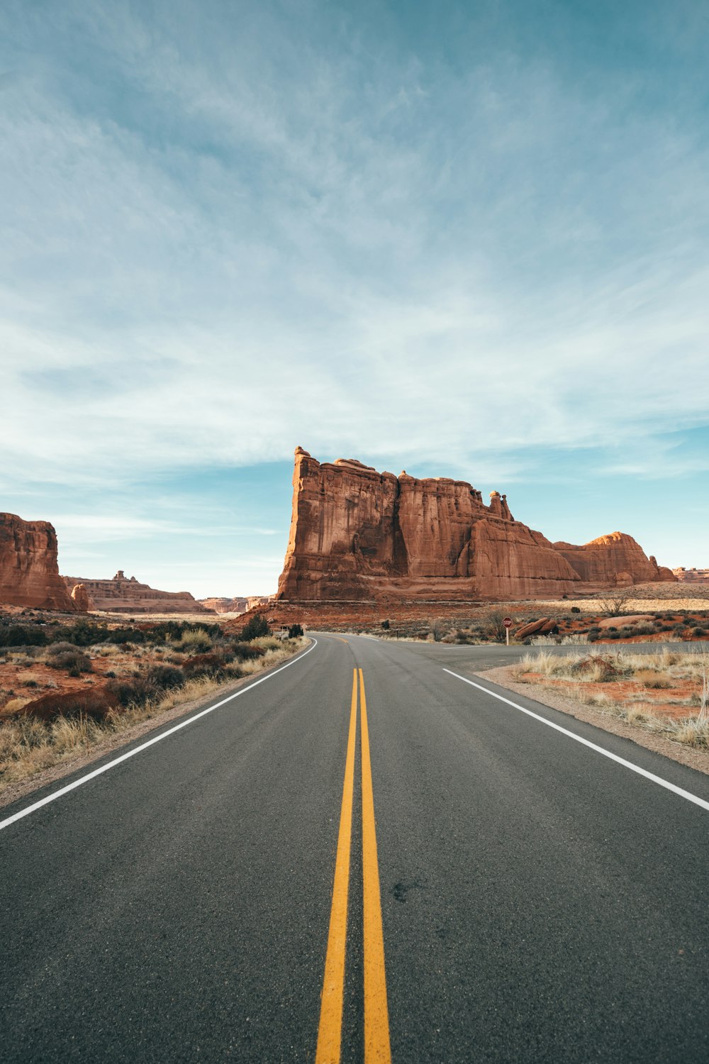
<path fill-rule="evenodd" d="M 365 678 L 359 669 L 361 728 L 361 865 L 365 910 L 365 1064 L 390 1064 L 389 1010 L 384 968 L 384 929 L 376 859 L 374 792 L 369 758 Z"/>

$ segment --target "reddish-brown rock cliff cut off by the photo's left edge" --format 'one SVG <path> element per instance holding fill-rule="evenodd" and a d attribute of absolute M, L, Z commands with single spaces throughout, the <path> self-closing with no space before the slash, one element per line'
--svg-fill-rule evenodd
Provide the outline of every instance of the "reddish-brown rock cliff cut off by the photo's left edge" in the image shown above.
<path fill-rule="evenodd" d="M 49 521 L 0 514 L 0 604 L 77 612 L 60 576 Z"/>

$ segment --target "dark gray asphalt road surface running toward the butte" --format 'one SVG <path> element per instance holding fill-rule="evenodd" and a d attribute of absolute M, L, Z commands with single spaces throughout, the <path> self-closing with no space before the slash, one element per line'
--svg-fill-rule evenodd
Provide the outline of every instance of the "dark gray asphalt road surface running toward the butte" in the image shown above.
<path fill-rule="evenodd" d="M 709 1060 L 709 811 L 443 670 L 519 651 L 317 638 L 0 831 L 2 1060 L 315 1060 L 355 667 L 392 1060 Z M 709 777 L 507 697 L 709 801 Z M 357 732 L 342 1061 L 373 926 L 361 769 Z"/>

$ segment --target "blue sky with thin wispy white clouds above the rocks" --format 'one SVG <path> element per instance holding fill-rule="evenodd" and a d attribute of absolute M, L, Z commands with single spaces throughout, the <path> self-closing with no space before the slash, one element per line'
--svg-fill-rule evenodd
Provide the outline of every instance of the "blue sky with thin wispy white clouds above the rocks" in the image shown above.
<path fill-rule="evenodd" d="M 275 588 L 291 456 L 709 567 L 709 9 L 5 2 L 0 509 Z"/>

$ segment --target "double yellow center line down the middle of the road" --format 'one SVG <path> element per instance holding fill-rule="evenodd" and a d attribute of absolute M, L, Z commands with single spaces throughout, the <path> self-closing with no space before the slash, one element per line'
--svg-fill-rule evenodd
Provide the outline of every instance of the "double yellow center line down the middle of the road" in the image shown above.
<path fill-rule="evenodd" d="M 342 1043 L 342 1005 L 344 1000 L 344 955 L 348 936 L 348 888 L 350 885 L 350 853 L 352 849 L 352 804 L 354 762 L 357 739 L 357 674 L 361 729 L 361 863 L 365 940 L 365 1064 L 389 1064 L 389 1010 L 384 969 L 384 931 L 379 869 L 376 859 L 374 825 L 374 793 L 372 765 L 369 757 L 367 699 L 361 669 L 352 678 L 350 734 L 344 762 L 344 785 L 340 830 L 337 838 L 333 905 L 330 913 L 325 975 L 322 983 L 320 1027 L 316 1064 L 339 1064 Z"/>

